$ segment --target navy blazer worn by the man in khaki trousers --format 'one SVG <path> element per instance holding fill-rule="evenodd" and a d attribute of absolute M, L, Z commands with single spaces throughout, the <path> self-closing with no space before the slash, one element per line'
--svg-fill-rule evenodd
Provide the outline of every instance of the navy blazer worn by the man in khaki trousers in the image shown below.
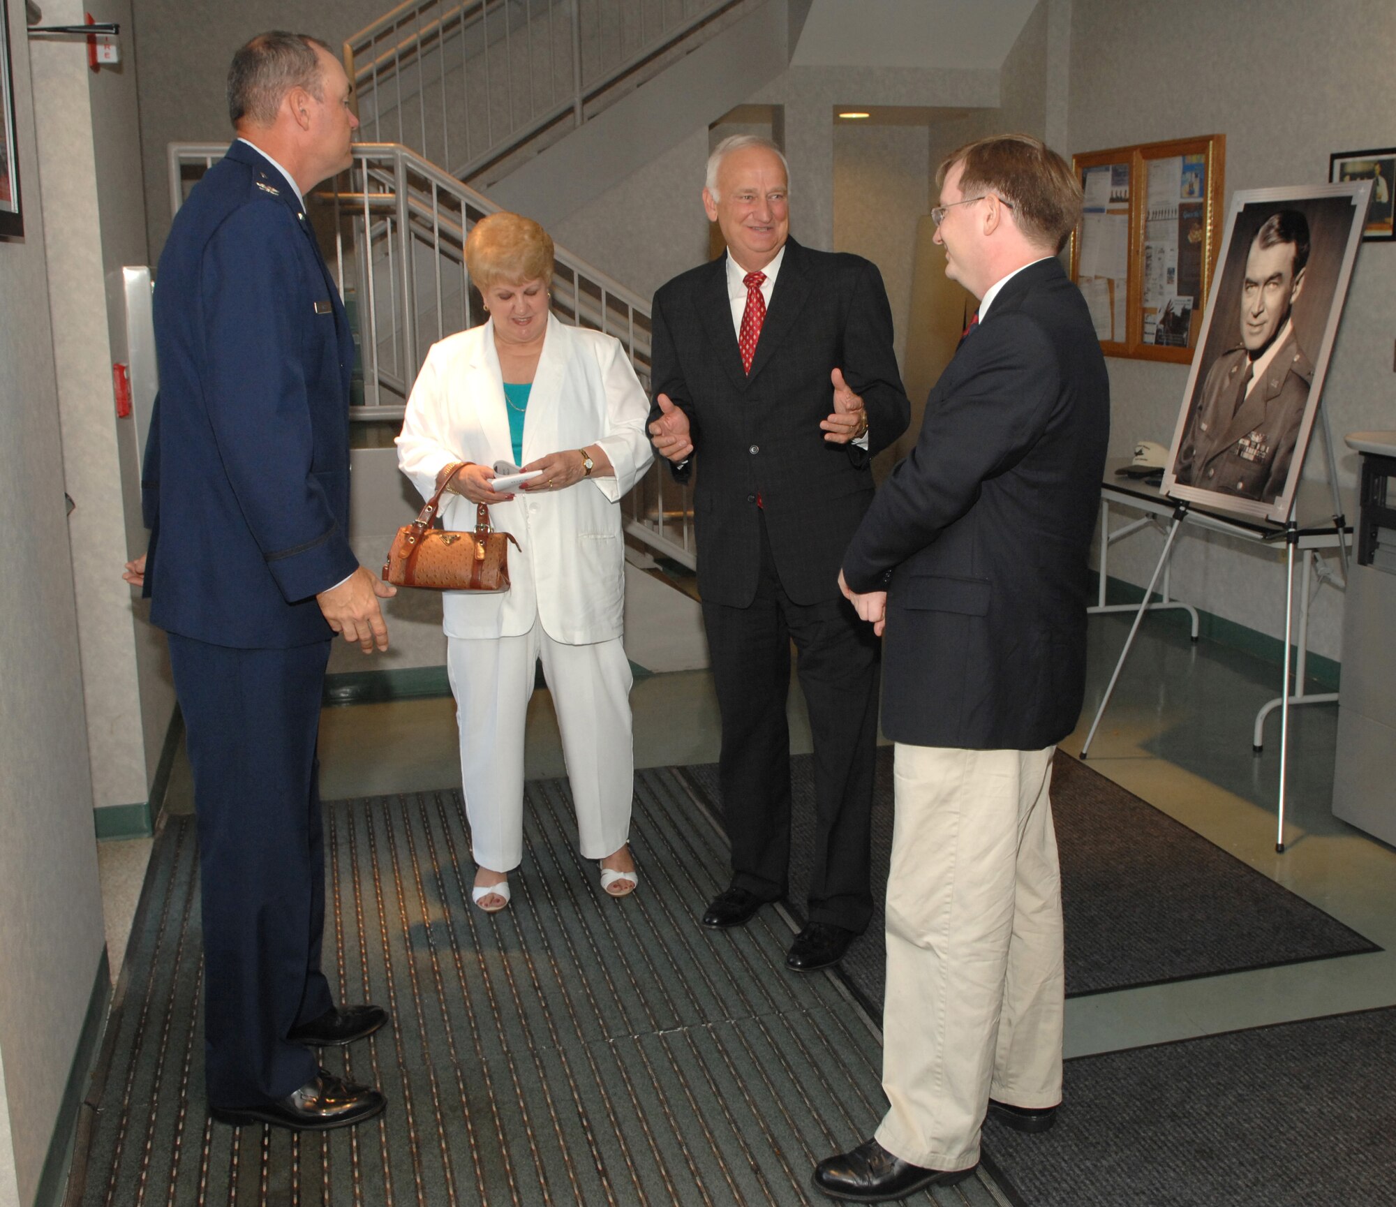
<path fill-rule="evenodd" d="M 1086 303 L 1057 260 L 1032 264 L 935 383 L 843 562 L 854 591 L 891 571 L 889 738 L 1037 750 L 1072 731 L 1108 430 Z"/>

